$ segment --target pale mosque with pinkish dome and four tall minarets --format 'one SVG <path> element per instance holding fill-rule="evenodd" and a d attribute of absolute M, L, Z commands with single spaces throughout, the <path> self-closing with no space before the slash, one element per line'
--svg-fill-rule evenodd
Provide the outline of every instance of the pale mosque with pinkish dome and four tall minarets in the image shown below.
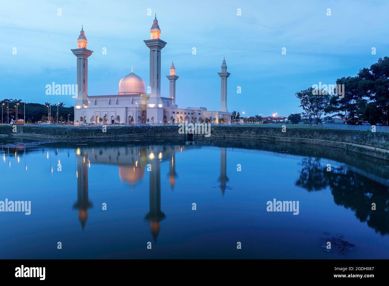
<path fill-rule="evenodd" d="M 160 39 L 161 29 L 157 17 L 150 29 L 151 38 L 144 40 L 150 49 L 150 85 L 145 92 L 145 82 L 131 72 L 119 81 L 116 95 L 88 95 L 88 57 L 93 51 L 87 49 L 88 40 L 84 29 L 77 39 L 78 48 L 71 51 L 77 56 L 77 100 L 74 105 L 74 122 L 94 124 L 153 124 L 196 123 L 206 118 L 215 123 L 231 124 L 231 113 L 227 109 L 227 72 L 223 60 L 221 72 L 221 106 L 219 111 L 208 111 L 206 107 L 178 108 L 176 104 L 176 75 L 174 64 L 170 66 L 169 97 L 161 97 L 161 50 L 167 44 Z M 119 119 L 120 118 L 120 119 Z M 91 120 L 92 119 L 92 120 Z M 92 122 L 91 122 L 92 121 Z"/>

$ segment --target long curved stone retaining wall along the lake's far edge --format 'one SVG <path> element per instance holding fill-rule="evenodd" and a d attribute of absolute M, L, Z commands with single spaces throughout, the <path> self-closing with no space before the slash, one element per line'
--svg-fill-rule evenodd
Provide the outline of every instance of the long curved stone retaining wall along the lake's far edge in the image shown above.
<path fill-rule="evenodd" d="M 12 136 L 33 137 L 36 139 L 54 140 L 90 140 L 90 139 L 120 139 L 139 137 L 180 137 L 178 126 L 107 126 L 107 132 L 100 127 L 83 126 L 17 126 L 17 132 L 12 132 L 12 126 L 0 125 L 0 134 Z M 212 126 L 211 136 L 195 134 L 196 137 L 228 138 L 237 140 L 270 140 L 273 142 L 288 142 L 299 144 L 317 144 L 331 148 L 347 149 L 356 153 L 389 160 L 389 134 L 366 131 L 286 128 L 259 126 Z M 358 146 L 362 145 L 362 146 Z"/>

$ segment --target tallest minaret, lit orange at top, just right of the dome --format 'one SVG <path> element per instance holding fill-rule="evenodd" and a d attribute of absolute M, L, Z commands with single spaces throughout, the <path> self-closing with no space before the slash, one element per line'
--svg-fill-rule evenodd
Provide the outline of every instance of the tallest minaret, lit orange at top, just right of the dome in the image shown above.
<path fill-rule="evenodd" d="M 154 122 L 163 121 L 163 103 L 161 99 L 161 50 L 167 44 L 159 39 L 161 29 L 158 26 L 157 15 L 150 29 L 150 40 L 144 40 L 150 49 L 150 87 L 151 94 L 147 102 L 147 118 L 154 117 Z"/>

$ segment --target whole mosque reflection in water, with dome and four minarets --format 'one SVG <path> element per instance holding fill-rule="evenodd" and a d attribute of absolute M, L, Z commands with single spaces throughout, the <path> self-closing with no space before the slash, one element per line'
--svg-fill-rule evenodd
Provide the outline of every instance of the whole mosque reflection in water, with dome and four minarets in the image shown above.
<path fill-rule="evenodd" d="M 161 211 L 161 162 L 169 161 L 168 179 L 173 190 L 175 179 L 178 177 L 175 170 L 175 153 L 186 149 L 199 148 L 195 146 L 121 146 L 116 148 L 93 147 L 75 150 L 77 158 L 77 202 L 73 208 L 78 209 L 78 218 L 84 229 L 88 219 L 88 209 L 93 206 L 88 197 L 88 168 L 90 164 L 110 164 L 119 166 L 119 177 L 122 181 L 131 185 L 137 184 L 145 177 L 145 172 L 149 174 L 149 212 L 145 215 L 145 220 L 150 221 L 151 235 L 156 241 L 161 230 L 160 222 L 165 219 L 165 214 Z M 226 182 L 226 148 L 220 149 L 220 188 L 224 195 Z"/>

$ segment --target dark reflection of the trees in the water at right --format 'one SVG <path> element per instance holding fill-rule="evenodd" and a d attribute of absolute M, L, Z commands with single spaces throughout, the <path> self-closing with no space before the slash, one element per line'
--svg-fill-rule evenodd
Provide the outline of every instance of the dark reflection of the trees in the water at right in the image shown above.
<path fill-rule="evenodd" d="M 334 202 L 355 212 L 356 217 L 382 235 L 389 233 L 389 188 L 349 170 L 347 165 L 331 166 L 320 158 L 305 157 L 296 186 L 307 191 L 331 189 Z M 376 210 L 371 204 L 376 204 Z"/>

